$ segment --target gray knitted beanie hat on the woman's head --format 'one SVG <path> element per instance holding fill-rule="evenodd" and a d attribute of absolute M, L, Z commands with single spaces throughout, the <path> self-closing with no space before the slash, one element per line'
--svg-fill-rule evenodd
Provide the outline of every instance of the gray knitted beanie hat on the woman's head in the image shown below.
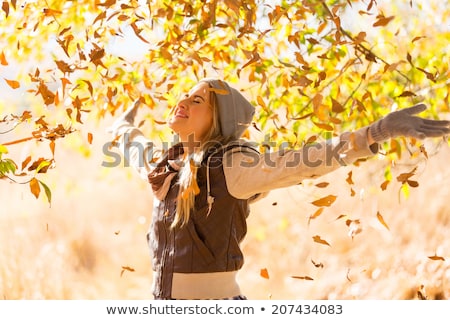
<path fill-rule="evenodd" d="M 220 130 L 224 137 L 239 139 L 252 122 L 255 107 L 228 83 L 217 79 L 203 79 L 216 89 Z"/>

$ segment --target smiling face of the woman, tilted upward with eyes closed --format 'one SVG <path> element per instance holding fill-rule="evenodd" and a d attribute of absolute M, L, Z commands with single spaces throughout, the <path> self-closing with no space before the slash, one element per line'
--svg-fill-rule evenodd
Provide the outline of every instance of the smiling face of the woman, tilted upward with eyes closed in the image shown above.
<path fill-rule="evenodd" d="M 189 139 L 202 141 L 212 123 L 213 110 L 206 82 L 197 84 L 180 99 L 168 122 L 169 127 L 180 135 L 183 142 L 190 141 Z"/>

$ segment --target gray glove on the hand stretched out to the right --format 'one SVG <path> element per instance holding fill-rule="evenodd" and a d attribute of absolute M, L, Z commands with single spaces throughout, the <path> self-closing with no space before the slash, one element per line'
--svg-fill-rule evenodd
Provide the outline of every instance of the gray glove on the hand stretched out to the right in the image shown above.
<path fill-rule="evenodd" d="M 398 136 L 425 139 L 427 137 L 442 137 L 450 133 L 450 121 L 429 120 L 415 117 L 413 114 L 422 112 L 427 107 L 417 104 L 410 108 L 394 111 L 369 126 L 369 133 L 376 142 Z"/>

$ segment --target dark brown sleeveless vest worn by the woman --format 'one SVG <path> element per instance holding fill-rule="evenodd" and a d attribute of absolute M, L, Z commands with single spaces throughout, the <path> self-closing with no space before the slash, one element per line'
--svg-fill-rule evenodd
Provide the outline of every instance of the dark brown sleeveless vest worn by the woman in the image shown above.
<path fill-rule="evenodd" d="M 236 199 L 228 193 L 222 166 L 223 154 L 233 147 L 217 150 L 203 160 L 197 171 L 200 193 L 186 225 L 171 228 L 179 189 L 177 177 L 172 180 L 166 198 L 154 200 L 147 239 L 152 252 L 153 295 L 156 299 L 171 298 L 174 272 L 224 272 L 242 267 L 244 258 L 239 244 L 247 233 L 249 200 Z M 166 164 L 167 157 L 159 166 L 167 167 Z M 208 171 L 210 195 L 214 197 L 209 214 Z"/>

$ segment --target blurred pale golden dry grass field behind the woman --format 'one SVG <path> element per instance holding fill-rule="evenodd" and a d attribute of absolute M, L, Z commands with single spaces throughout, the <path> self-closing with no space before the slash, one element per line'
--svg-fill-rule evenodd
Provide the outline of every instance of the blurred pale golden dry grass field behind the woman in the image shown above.
<path fill-rule="evenodd" d="M 90 157 L 76 151 L 75 138 L 57 145 L 57 167 L 42 177 L 53 191 L 51 206 L 26 185 L 0 182 L 2 299 L 152 298 L 150 188 L 130 168 L 101 166 L 107 136 L 98 130 Z M 450 148 L 431 151 L 426 161 L 399 161 L 385 191 L 381 162 L 371 160 L 255 203 L 242 246 L 243 292 L 274 300 L 449 299 Z M 419 187 L 406 198 L 395 177 L 415 166 Z M 346 182 L 350 171 L 354 185 Z M 329 194 L 335 203 L 310 219 L 318 209 L 311 202 Z"/>

